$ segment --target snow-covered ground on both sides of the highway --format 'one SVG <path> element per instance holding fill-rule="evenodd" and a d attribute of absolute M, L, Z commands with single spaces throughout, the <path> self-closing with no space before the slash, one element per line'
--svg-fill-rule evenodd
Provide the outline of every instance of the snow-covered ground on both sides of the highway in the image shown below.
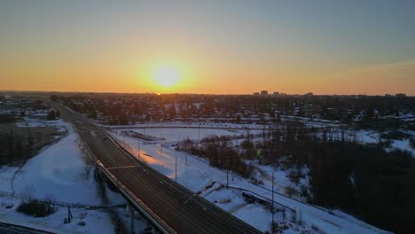
<path fill-rule="evenodd" d="M 3 166 L 0 169 L 0 219 L 2 222 L 19 222 L 38 229 L 61 231 L 62 233 L 113 233 L 114 215 L 128 219 L 125 200 L 106 184 L 94 179 L 94 165 L 87 159 L 82 142 L 72 126 L 66 121 L 39 121 L 25 118 L 17 123 L 20 127 L 56 126 L 65 132 L 56 144 L 46 146 L 42 152 L 20 167 Z M 258 230 L 269 231 L 272 214 L 270 207 L 258 202 L 248 202 L 243 193 L 271 202 L 272 173 L 274 173 L 274 216 L 284 233 L 386 233 L 357 220 L 340 210 L 315 207 L 304 203 L 304 198 L 289 198 L 287 187 L 297 190 L 309 186 L 309 178 L 293 183 L 289 179 L 290 169 L 265 166 L 258 161 L 247 161 L 254 165 L 256 180 L 243 178 L 226 170 L 212 168 L 206 159 L 186 152 L 176 151 L 178 142 L 184 139 L 200 141 L 206 136 L 239 136 L 260 134 L 263 127 L 238 124 L 186 124 L 147 123 L 134 127 L 112 126 L 106 128 L 114 141 L 128 150 L 137 160 L 142 160 L 177 183 L 183 184 L 223 210 L 253 225 Z M 132 137 L 131 133 L 153 136 L 155 140 Z M 367 143 L 376 142 L 376 133 L 361 130 L 358 137 Z M 239 144 L 239 140 L 234 140 Z M 390 148 L 401 148 L 413 153 L 409 141 L 395 140 Z M 306 171 L 307 168 L 304 168 Z M 229 188 L 227 188 L 227 179 Z M 261 181 L 262 183 L 257 183 Z M 106 199 L 102 199 L 103 188 Z M 34 218 L 17 212 L 24 199 L 52 199 L 57 212 L 44 218 Z M 64 223 L 67 207 L 71 207 L 73 222 Z M 108 208 L 111 207 L 111 208 Z M 294 213 L 295 211 L 295 213 Z M 145 221 L 136 220 L 137 230 L 144 230 Z M 82 223 L 82 224 L 81 224 Z"/>

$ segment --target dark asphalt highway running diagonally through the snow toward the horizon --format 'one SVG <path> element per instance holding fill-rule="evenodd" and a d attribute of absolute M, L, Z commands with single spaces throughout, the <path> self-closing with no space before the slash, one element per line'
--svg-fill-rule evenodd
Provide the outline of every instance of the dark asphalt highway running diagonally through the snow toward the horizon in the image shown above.
<path fill-rule="evenodd" d="M 94 125 L 83 115 L 56 103 L 50 105 L 59 111 L 63 119 L 73 124 L 98 160 L 106 168 L 113 168 L 110 170 L 119 183 L 132 191 L 172 230 L 177 233 L 261 233 L 145 163 L 132 161 L 106 139 L 105 129 Z"/>

